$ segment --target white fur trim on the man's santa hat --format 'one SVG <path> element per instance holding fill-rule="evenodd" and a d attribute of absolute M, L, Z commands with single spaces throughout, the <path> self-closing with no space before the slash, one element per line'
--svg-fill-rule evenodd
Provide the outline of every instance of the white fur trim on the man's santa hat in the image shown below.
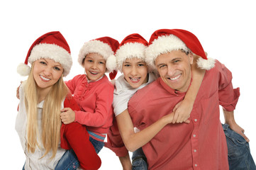
<path fill-rule="evenodd" d="M 149 67 L 155 69 L 155 59 L 158 55 L 164 54 L 166 52 L 171 52 L 172 50 L 185 50 L 189 52 L 189 48 L 185 43 L 177 38 L 175 35 L 162 35 L 157 39 L 153 40 L 152 44 L 145 50 L 146 59 L 145 62 L 149 64 Z"/>

